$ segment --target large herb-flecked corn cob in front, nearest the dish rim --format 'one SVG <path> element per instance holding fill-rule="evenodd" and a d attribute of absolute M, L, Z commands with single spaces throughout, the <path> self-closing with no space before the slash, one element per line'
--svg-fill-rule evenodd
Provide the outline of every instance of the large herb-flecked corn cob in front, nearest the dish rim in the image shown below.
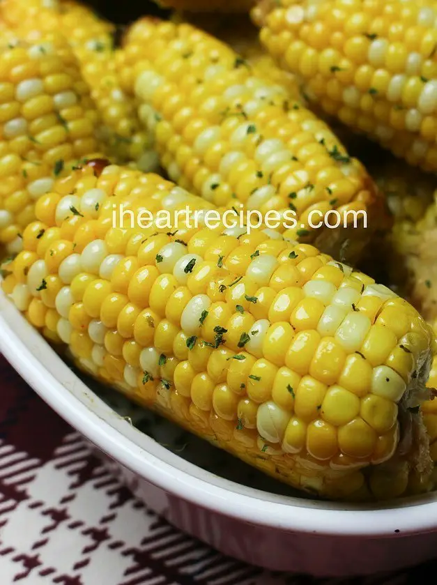
<path fill-rule="evenodd" d="M 114 203 L 208 206 L 118 167 L 56 181 L 3 283 L 33 325 L 95 377 L 299 489 L 426 489 L 418 405 L 434 338 L 413 307 L 312 245 L 222 222 L 114 227 Z"/>

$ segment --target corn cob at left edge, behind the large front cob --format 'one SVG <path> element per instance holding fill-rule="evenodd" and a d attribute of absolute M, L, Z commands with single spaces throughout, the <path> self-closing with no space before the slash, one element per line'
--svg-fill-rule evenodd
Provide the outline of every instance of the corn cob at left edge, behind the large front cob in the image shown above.
<path fill-rule="evenodd" d="M 0 45 L 0 243 L 22 248 L 35 199 L 56 176 L 96 156 L 98 115 L 62 38 L 26 43 L 3 32 Z"/>

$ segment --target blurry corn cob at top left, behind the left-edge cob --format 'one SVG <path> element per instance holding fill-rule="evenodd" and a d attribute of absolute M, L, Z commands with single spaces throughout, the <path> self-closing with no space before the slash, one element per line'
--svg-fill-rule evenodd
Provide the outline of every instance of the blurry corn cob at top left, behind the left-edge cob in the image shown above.
<path fill-rule="evenodd" d="M 100 112 L 99 138 L 107 155 L 120 163 L 134 161 L 145 171 L 155 169 L 157 157 L 141 128 L 135 100 L 125 96 L 118 82 L 116 27 L 71 1 L 4 0 L 2 6 L 3 16 L 20 34 L 38 29 L 66 36 Z"/>

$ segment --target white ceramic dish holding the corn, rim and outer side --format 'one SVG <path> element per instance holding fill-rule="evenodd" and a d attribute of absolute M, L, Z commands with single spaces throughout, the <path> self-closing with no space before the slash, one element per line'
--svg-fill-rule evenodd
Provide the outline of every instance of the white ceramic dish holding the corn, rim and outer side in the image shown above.
<path fill-rule="evenodd" d="M 390 506 L 353 506 L 272 494 L 201 469 L 100 400 L 2 293 L 0 349 L 55 411 L 112 459 L 148 506 L 225 554 L 313 575 L 370 574 L 437 557 L 437 492 Z M 212 457 L 220 453 L 211 450 Z"/>

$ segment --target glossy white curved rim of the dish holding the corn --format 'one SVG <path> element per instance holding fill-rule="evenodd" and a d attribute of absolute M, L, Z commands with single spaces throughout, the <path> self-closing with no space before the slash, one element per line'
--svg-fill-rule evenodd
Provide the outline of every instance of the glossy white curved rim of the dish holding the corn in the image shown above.
<path fill-rule="evenodd" d="M 390 538 L 437 531 L 437 492 L 401 499 L 390 507 L 300 500 L 240 485 L 185 461 L 136 430 L 100 400 L 11 305 L 3 291 L 0 352 L 54 411 L 100 450 L 139 477 L 197 506 L 295 533 Z M 43 364 L 47 360 L 49 369 Z"/>

